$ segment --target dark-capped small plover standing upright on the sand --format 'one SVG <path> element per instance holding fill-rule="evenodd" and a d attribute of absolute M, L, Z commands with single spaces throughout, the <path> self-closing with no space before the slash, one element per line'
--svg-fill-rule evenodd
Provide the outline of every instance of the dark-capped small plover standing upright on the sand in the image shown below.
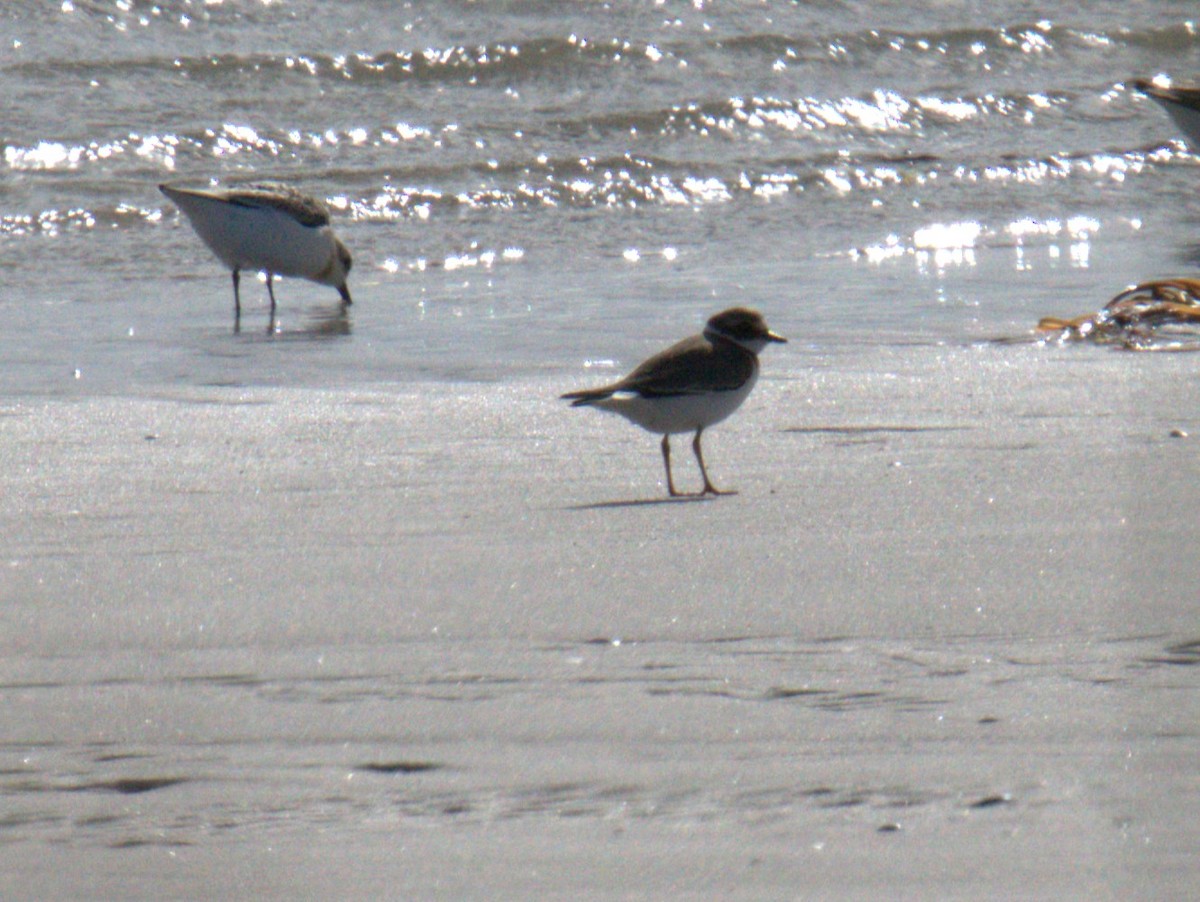
<path fill-rule="evenodd" d="M 676 491 L 671 477 L 671 435 L 695 431 L 691 449 L 704 480 L 697 494 L 732 494 L 716 488 L 708 477 L 701 435 L 746 399 L 758 379 L 758 353 L 770 342 L 786 341 L 767 327 L 757 311 L 732 307 L 712 317 L 701 335 L 655 354 L 620 381 L 570 391 L 563 398 L 572 402 L 571 407 L 611 410 L 661 434 L 662 465 L 672 497 L 685 493 Z"/>

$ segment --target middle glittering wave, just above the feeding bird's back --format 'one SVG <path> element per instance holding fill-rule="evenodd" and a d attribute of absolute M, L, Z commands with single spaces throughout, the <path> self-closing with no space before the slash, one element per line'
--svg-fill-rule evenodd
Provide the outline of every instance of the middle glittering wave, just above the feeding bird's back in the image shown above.
<path fill-rule="evenodd" d="M 680 137 L 724 140 L 769 137 L 773 133 L 784 137 L 788 133 L 824 134 L 844 152 L 857 156 L 864 146 L 860 142 L 858 145 L 847 143 L 852 139 L 875 134 L 920 137 L 935 130 L 944 133 L 960 125 L 973 130 L 989 119 L 1014 121 L 1020 127 L 1027 127 L 1036 116 L 1056 107 L 1067 107 L 1072 100 L 1073 95 L 1068 92 L 928 94 L 906 97 L 886 90 L 834 98 L 728 97 L 649 109 L 595 112 L 577 118 L 550 116 L 529 121 L 516 134 L 497 125 L 487 142 L 486 154 L 479 152 L 478 139 L 460 134 L 456 124 L 431 127 L 404 121 L 319 131 L 222 122 L 150 134 L 126 132 L 86 142 L 44 138 L 28 144 L 6 144 L 0 152 L 2 166 L 11 172 L 77 172 L 101 167 L 130 176 L 139 173 L 161 175 L 187 160 L 239 158 L 257 166 L 302 166 L 304 161 L 323 157 L 329 162 L 328 157 L 344 148 L 364 148 L 364 156 L 372 156 L 372 151 L 378 155 L 404 145 L 419 148 L 422 157 L 428 160 L 440 160 L 448 154 L 468 157 L 474 161 L 478 172 L 487 174 L 540 168 L 544 155 L 529 160 L 530 146 L 554 149 L 570 145 L 574 151 L 574 148 L 584 144 L 584 139 L 589 142 L 587 146 L 594 148 L 595 139 L 604 139 L 601 145 L 614 143 L 619 146 L 628 145 L 634 134 L 642 139 L 668 139 L 677 154 L 695 152 L 688 144 L 678 142 Z M 481 124 L 476 128 L 487 131 L 488 126 Z M 829 143 L 811 143 L 811 152 L 826 152 Z M 764 148 L 769 150 L 769 144 Z M 571 158 L 566 154 L 562 156 Z M 440 162 L 432 166 L 431 172 L 440 170 Z"/>

